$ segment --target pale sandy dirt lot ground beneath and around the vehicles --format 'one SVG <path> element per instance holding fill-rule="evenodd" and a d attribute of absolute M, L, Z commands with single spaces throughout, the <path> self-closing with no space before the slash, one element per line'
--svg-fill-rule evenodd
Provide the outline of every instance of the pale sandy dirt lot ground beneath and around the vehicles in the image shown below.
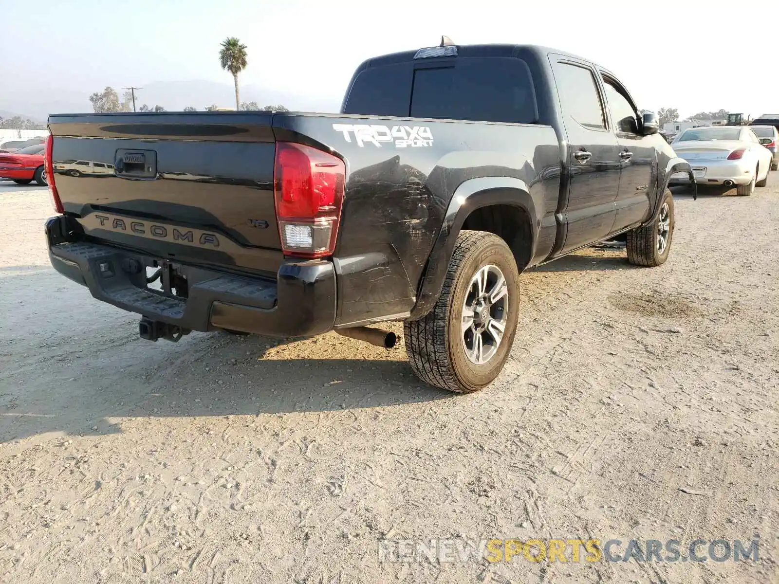
<path fill-rule="evenodd" d="M 48 265 L 48 194 L 0 183 L 0 581 L 779 582 L 777 182 L 679 193 L 661 268 L 590 249 L 524 274 L 506 371 L 471 396 L 333 333 L 143 341 Z M 378 553 L 755 534 L 738 563 Z"/>

